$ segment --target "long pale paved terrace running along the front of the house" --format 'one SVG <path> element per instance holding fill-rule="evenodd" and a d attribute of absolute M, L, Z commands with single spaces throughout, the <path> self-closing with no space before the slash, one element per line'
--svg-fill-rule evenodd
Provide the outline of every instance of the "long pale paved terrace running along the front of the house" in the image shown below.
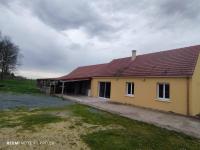
<path fill-rule="evenodd" d="M 57 96 L 61 97 L 62 95 Z M 187 135 L 200 138 L 200 120 L 196 118 L 190 118 L 135 106 L 115 104 L 100 98 L 68 95 L 63 95 L 63 98 L 89 105 L 107 112 L 118 114 L 123 117 L 151 123 L 168 130 L 183 132 Z"/>

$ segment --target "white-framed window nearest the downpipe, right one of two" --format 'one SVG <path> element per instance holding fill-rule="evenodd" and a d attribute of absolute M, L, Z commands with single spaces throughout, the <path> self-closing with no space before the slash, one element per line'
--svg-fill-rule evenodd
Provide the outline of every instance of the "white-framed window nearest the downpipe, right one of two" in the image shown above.
<path fill-rule="evenodd" d="M 170 85 L 169 83 L 158 83 L 157 84 L 157 96 L 161 100 L 170 99 Z"/>

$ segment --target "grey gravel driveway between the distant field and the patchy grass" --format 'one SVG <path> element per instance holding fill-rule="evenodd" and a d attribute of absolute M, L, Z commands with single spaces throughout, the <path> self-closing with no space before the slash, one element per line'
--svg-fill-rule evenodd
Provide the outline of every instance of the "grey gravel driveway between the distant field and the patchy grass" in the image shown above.
<path fill-rule="evenodd" d="M 72 101 L 42 95 L 0 93 L 0 110 L 16 107 L 53 107 L 73 104 Z"/>

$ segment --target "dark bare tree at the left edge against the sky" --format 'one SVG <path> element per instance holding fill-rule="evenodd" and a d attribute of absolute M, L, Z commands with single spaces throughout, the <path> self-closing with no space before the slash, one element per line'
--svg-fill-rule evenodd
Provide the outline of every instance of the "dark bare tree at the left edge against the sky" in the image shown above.
<path fill-rule="evenodd" d="M 0 36 L 0 69 L 1 80 L 9 75 L 17 66 L 19 47 L 9 37 Z"/>

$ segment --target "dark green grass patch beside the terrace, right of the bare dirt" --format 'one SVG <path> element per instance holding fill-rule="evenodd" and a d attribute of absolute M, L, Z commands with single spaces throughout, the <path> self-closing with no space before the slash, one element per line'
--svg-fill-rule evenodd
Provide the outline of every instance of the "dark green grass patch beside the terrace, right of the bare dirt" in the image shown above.
<path fill-rule="evenodd" d="M 168 131 L 154 125 L 130 120 L 82 105 L 71 107 L 84 122 L 97 125 L 119 125 L 122 129 L 109 129 L 82 136 L 94 150 L 199 150 L 200 140 Z"/>

